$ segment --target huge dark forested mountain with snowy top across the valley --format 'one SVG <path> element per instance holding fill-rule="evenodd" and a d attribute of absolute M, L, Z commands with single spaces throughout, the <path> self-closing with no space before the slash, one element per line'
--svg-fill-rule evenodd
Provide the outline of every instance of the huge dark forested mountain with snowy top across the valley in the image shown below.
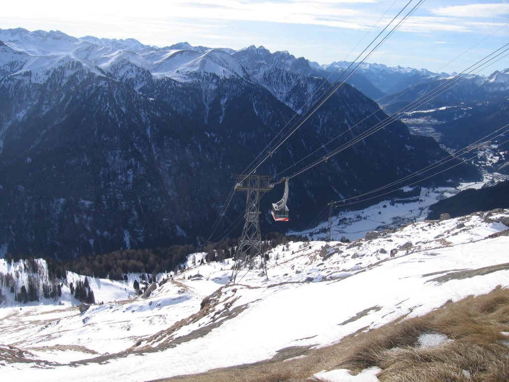
<path fill-rule="evenodd" d="M 0 255 L 70 258 L 207 235 L 236 175 L 328 90 L 323 69 L 263 47 L 155 48 L 23 29 L 0 40 Z M 292 180 L 289 226 L 264 213 L 266 229 L 303 229 L 331 200 L 447 155 L 400 122 L 346 145 L 385 118 L 362 93 L 338 89 L 258 169 L 279 179 L 345 145 Z M 478 178 L 463 164 L 426 183 Z M 239 233 L 243 199 L 216 235 Z"/>

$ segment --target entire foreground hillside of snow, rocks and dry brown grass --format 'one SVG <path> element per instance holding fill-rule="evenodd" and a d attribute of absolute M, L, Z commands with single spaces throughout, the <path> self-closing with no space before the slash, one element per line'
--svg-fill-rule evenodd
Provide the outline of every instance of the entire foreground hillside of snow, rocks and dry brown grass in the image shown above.
<path fill-rule="evenodd" d="M 496 380 L 509 353 L 507 219 L 509 210 L 496 210 L 350 243 L 292 242 L 270 251 L 269 280 L 244 270 L 231 285 L 232 262 L 210 263 L 148 298 L 130 297 L 135 275 L 91 279 L 104 304 L 83 313 L 65 288 L 63 306 L 0 309 L 2 376 L 127 382 L 235 366 L 189 380 L 425 380 L 391 374 L 406 365 L 418 377 L 429 369 L 443 380 Z M 463 357 L 453 370 L 434 364 L 453 353 Z"/>

